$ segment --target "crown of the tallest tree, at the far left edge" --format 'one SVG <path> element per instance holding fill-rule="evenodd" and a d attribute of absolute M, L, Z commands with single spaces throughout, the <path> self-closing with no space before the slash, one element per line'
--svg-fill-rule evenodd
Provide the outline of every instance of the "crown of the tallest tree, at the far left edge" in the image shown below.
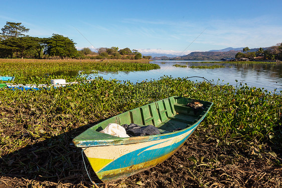
<path fill-rule="evenodd" d="M 30 29 L 25 28 L 21 25 L 22 23 L 6 22 L 6 26 L 1 29 L 2 38 L 7 39 L 10 37 L 24 37 L 23 33 L 29 32 Z"/>

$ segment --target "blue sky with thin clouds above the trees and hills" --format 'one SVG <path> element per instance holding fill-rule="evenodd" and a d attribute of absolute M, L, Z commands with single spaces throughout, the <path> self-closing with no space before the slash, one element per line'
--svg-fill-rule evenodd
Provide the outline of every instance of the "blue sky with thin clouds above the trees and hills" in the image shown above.
<path fill-rule="evenodd" d="M 281 8 L 281 0 L 3 1 L 0 28 L 21 22 L 30 36 L 60 34 L 78 49 L 117 46 L 185 55 L 276 45 L 282 42 Z"/>

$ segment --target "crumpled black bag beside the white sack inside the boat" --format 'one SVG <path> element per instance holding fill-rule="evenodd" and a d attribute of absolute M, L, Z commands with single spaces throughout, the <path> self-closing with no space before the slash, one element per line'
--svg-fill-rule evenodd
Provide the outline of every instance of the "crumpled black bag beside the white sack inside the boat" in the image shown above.
<path fill-rule="evenodd" d="M 153 125 L 138 126 L 134 123 L 130 123 L 130 125 L 124 124 L 121 126 L 125 129 L 126 134 L 130 137 L 161 134 L 159 129 Z"/>

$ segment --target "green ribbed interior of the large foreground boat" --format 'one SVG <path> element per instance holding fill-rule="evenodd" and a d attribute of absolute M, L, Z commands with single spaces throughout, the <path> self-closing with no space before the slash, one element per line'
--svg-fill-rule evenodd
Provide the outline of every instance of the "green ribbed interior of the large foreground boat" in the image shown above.
<path fill-rule="evenodd" d="M 202 108 L 193 109 L 187 106 L 194 102 L 203 104 Z M 154 125 L 161 134 L 169 133 L 192 126 L 206 114 L 211 104 L 187 98 L 170 97 L 109 118 L 93 128 L 101 131 L 109 123 L 119 125 L 134 123 L 139 126 Z"/>

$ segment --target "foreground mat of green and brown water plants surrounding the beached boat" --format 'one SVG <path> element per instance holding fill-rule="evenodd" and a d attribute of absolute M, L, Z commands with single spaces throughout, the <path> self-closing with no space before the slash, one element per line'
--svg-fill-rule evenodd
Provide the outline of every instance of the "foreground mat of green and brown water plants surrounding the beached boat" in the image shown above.
<path fill-rule="evenodd" d="M 154 168 L 105 184 L 86 161 L 99 183 L 93 185 L 72 139 L 109 117 L 171 96 L 214 105 L 183 147 Z M 281 96 L 240 83 L 172 77 L 138 84 L 98 77 L 58 89 L 3 89 L 0 188 L 281 187 Z"/>

